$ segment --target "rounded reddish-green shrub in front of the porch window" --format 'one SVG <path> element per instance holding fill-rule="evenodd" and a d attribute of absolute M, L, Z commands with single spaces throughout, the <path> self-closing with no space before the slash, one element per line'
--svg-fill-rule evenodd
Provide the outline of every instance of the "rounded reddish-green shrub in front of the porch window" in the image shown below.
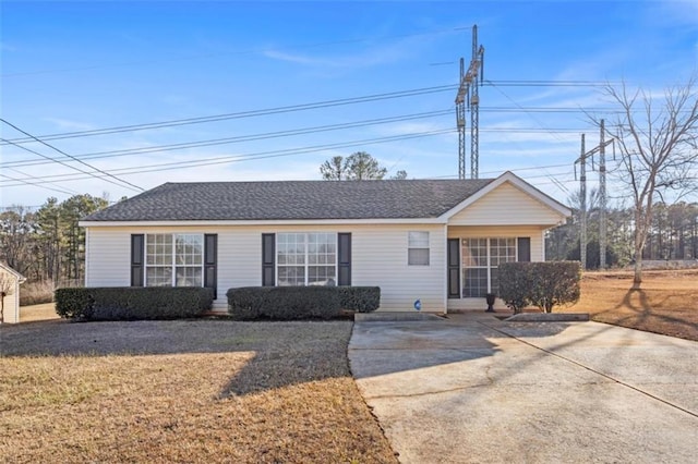
<path fill-rule="evenodd" d="M 579 261 L 505 262 L 500 265 L 500 297 L 514 313 L 526 306 L 552 313 L 579 301 L 580 280 Z"/>

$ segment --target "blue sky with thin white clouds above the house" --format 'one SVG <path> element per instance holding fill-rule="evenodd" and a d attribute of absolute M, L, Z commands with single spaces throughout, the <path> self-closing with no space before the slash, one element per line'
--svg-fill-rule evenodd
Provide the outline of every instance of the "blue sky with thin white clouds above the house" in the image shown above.
<path fill-rule="evenodd" d="M 610 109 L 599 87 L 567 84 L 625 80 L 661 91 L 698 69 L 695 1 L 5 0 L 0 9 L 1 118 L 62 151 L 20 143 L 2 123 L 2 138 L 36 151 L 0 145 L 2 207 L 76 193 L 116 200 L 164 182 L 313 180 L 324 160 L 358 150 L 390 174 L 457 178 L 455 86 L 473 24 L 485 47 L 480 178 L 512 170 L 567 202 L 580 134 L 598 143 L 585 111 Z M 394 98 L 356 101 L 378 95 Z M 349 102 L 323 103 L 335 100 Z M 311 103 L 323 105 L 299 108 Z M 611 198 L 623 196 L 613 188 Z"/>

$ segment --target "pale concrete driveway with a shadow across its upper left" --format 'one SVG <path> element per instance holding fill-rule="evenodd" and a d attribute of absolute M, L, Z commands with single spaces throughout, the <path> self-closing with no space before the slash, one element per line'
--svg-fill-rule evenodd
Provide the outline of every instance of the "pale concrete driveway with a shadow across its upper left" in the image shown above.
<path fill-rule="evenodd" d="M 698 342 L 598 322 L 357 322 L 351 370 L 404 463 L 695 463 Z"/>

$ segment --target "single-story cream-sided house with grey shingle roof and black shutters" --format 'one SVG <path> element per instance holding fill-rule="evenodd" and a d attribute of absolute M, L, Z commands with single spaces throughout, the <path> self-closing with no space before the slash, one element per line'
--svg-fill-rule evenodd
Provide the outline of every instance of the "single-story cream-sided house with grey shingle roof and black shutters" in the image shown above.
<path fill-rule="evenodd" d="M 496 179 L 166 183 L 82 219 L 86 286 L 377 285 L 384 312 L 484 308 L 570 210 Z M 502 302 L 498 302 L 501 305 Z"/>

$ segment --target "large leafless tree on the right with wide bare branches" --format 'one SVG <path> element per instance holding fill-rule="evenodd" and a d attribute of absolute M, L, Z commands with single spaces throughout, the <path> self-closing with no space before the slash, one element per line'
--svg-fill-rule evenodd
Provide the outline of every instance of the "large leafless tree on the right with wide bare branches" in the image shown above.
<path fill-rule="evenodd" d="M 696 76 L 669 87 L 662 97 L 643 89 L 607 85 L 605 93 L 621 112 L 606 126 L 621 155 L 621 175 L 635 213 L 635 284 L 642 282 L 642 249 L 652 223 L 655 198 L 674 191 L 696 192 L 698 178 L 698 96 Z M 658 101 L 659 100 L 659 101 Z M 600 125 L 599 120 L 594 120 Z"/>

